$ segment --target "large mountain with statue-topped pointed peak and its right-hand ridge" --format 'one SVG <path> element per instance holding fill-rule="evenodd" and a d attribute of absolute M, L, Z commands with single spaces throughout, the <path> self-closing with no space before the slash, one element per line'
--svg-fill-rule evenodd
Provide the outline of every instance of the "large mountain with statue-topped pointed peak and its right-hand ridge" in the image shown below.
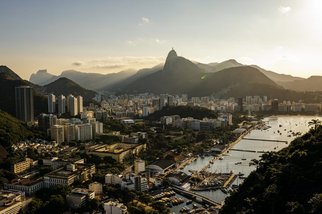
<path fill-rule="evenodd" d="M 143 76 L 128 86 L 124 91 L 153 92 L 189 95 L 210 95 L 240 82 L 257 82 L 279 88 L 276 83 L 259 70 L 249 67 L 232 67 L 215 73 L 205 73 L 193 62 L 177 56 L 171 50 L 166 58 L 163 70 Z"/>

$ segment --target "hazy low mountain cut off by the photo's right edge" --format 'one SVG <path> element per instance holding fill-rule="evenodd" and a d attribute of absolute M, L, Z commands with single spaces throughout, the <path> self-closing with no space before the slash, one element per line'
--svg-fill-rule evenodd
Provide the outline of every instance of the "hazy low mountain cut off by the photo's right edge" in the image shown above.
<path fill-rule="evenodd" d="M 280 83 L 283 87 L 299 91 L 322 91 L 322 76 L 311 76 L 308 79 Z"/>

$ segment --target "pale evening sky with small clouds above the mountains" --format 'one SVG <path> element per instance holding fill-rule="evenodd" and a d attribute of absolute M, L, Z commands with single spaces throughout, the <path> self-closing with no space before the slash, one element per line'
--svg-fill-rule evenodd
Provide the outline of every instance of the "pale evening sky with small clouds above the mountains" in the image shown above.
<path fill-rule="evenodd" d="M 0 65 L 113 73 L 178 55 L 322 75 L 322 0 L 1 0 Z"/>

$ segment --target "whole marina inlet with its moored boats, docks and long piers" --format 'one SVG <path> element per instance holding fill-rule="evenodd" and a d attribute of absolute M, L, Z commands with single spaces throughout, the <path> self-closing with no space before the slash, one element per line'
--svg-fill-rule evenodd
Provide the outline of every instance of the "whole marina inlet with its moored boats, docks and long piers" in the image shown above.
<path fill-rule="evenodd" d="M 224 182 L 220 181 L 223 184 L 218 184 L 217 187 L 204 187 L 202 189 L 202 186 L 199 186 L 198 189 L 196 186 L 193 186 L 190 190 L 191 192 L 198 192 L 198 194 L 216 202 L 221 202 L 229 196 L 230 192 L 236 191 L 244 178 L 247 177 L 251 171 L 256 169 L 255 167 L 249 167 L 249 163 L 252 159 L 259 159 L 259 156 L 264 152 L 278 151 L 288 146 L 289 142 L 291 142 L 299 133 L 304 133 L 309 130 L 308 122 L 312 119 L 317 119 L 317 117 L 265 118 L 263 119 L 263 122 L 268 124 L 270 128 L 267 128 L 266 130 L 253 129 L 250 133 L 246 134 L 243 139 L 239 139 L 237 143 L 234 143 L 228 150 L 229 153 L 225 153 L 224 157 L 222 156 L 223 154 L 215 156 L 215 158 L 214 156 L 201 156 L 179 171 L 183 171 L 187 174 L 208 171 L 213 174 L 220 173 L 222 175 L 226 174 L 228 177 L 233 177 L 234 179 L 231 178 L 230 180 L 228 178 L 228 183 L 227 180 Z M 318 119 L 321 120 L 321 118 Z M 295 124 L 297 126 L 295 126 Z M 282 134 L 279 134 L 281 132 L 277 132 L 277 130 L 281 128 L 279 125 L 282 125 L 282 130 L 286 129 Z M 297 134 L 289 136 L 289 133 L 292 132 Z M 236 171 L 238 173 L 230 174 L 231 171 Z M 204 179 L 203 182 L 209 182 L 212 179 L 213 178 L 209 176 L 209 178 Z M 226 184 L 226 188 L 222 188 L 222 185 L 224 184 Z M 172 211 L 171 208 L 171 212 L 175 211 Z"/>

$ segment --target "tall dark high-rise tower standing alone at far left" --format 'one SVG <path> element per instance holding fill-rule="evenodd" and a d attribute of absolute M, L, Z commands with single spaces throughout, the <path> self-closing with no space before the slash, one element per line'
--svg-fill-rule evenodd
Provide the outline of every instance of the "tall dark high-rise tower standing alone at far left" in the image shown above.
<path fill-rule="evenodd" d="M 16 118 L 34 123 L 34 93 L 30 86 L 15 87 Z"/>

